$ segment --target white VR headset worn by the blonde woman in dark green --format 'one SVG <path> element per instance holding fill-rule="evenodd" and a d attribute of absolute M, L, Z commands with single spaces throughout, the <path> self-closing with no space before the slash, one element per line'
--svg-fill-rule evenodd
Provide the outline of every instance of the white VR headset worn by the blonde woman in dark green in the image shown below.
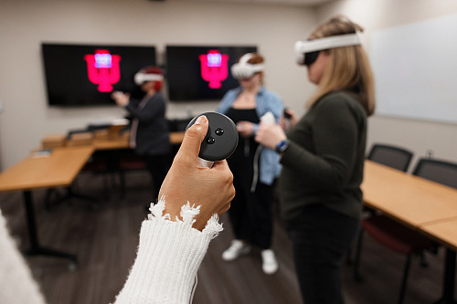
<path fill-rule="evenodd" d="M 317 38 L 308 41 L 297 41 L 295 42 L 295 59 L 298 64 L 306 65 L 306 61 L 308 61 L 306 60 L 306 53 L 335 47 L 359 46 L 361 44 L 360 36 L 357 33 Z"/>

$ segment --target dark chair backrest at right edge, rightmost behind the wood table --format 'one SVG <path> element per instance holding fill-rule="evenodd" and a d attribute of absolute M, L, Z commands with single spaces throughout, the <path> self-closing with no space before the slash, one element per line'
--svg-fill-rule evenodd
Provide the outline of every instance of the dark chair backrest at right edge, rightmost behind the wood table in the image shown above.
<path fill-rule="evenodd" d="M 457 189 L 457 163 L 421 158 L 414 175 Z"/>

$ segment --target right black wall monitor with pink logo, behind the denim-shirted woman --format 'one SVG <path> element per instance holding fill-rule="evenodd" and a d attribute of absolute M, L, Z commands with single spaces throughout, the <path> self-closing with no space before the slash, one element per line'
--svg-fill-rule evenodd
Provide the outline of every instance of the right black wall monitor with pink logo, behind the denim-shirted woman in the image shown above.
<path fill-rule="evenodd" d="M 166 47 L 166 79 L 172 101 L 220 100 L 228 89 L 239 86 L 230 67 L 257 47 Z"/>

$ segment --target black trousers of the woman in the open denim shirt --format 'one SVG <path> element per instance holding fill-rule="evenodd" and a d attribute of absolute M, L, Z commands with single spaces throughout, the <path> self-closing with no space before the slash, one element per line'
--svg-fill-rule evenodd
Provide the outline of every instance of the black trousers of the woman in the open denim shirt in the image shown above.
<path fill-rule="evenodd" d="M 228 215 L 235 237 L 248 241 L 261 249 L 271 246 L 273 219 L 271 215 L 272 186 L 258 183 L 250 192 L 250 181 L 234 180 L 237 191 L 230 204 Z"/>

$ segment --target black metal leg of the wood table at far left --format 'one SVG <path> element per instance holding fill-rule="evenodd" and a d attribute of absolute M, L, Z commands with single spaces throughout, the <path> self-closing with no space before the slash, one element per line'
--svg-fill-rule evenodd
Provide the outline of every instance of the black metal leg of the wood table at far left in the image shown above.
<path fill-rule="evenodd" d="M 32 202 L 32 193 L 29 190 L 24 192 L 24 203 L 26 205 L 28 237 L 30 240 L 30 248 L 26 251 L 26 254 L 28 256 L 50 256 L 68 258 L 75 265 L 78 265 L 78 258 L 75 255 L 71 255 L 66 252 L 57 251 L 39 245 L 37 236 L 37 223 L 35 221 L 35 211 Z"/>

